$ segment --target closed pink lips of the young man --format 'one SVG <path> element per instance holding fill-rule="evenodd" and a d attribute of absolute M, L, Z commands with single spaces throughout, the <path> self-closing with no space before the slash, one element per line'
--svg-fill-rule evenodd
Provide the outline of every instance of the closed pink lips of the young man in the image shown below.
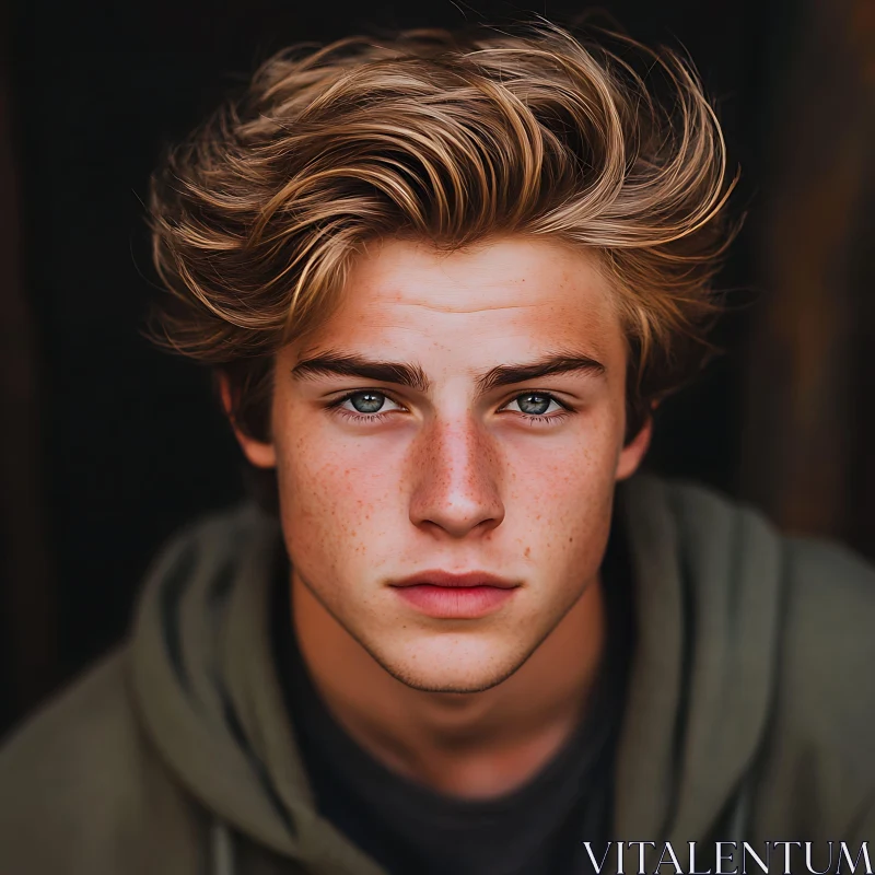
<path fill-rule="evenodd" d="M 509 602 L 520 584 L 472 571 L 427 571 L 396 581 L 392 588 L 408 605 L 436 619 L 478 619 Z"/>

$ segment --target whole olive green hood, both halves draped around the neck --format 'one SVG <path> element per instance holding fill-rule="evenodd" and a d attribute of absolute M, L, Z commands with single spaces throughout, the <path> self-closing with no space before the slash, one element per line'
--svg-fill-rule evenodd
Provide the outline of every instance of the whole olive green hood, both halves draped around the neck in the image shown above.
<path fill-rule="evenodd" d="M 637 476 L 618 501 L 637 644 L 615 833 L 680 848 L 738 798 L 766 728 L 780 541 L 759 515 L 699 487 Z M 250 504 L 173 540 L 138 611 L 135 699 L 167 767 L 217 822 L 314 875 L 377 875 L 313 807 L 271 651 L 280 549 L 279 524 Z"/>

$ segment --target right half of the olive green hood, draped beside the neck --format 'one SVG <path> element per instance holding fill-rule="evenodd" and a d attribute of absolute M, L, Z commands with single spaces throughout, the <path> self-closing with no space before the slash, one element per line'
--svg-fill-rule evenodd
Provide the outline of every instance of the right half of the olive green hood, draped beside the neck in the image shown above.
<path fill-rule="evenodd" d="M 615 831 L 681 849 L 719 821 L 745 827 L 775 686 L 782 540 L 758 512 L 691 483 L 639 476 L 619 500 L 637 651 Z"/>

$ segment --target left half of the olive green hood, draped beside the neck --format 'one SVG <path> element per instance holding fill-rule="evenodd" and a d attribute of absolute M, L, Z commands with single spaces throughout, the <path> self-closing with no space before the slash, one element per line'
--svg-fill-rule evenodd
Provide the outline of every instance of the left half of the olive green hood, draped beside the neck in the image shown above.
<path fill-rule="evenodd" d="M 140 720 L 213 817 L 212 873 L 234 871 L 225 825 L 307 873 L 381 875 L 313 805 L 270 640 L 279 523 L 244 504 L 180 533 L 148 575 L 133 630 Z"/>

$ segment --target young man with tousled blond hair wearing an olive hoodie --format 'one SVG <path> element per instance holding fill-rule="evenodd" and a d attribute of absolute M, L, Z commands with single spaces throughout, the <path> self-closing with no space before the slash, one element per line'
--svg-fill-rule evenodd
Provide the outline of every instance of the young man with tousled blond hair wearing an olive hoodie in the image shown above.
<path fill-rule="evenodd" d="M 0 871 L 871 871 L 872 571 L 633 477 L 731 185 L 612 44 L 285 52 L 170 156 L 164 338 L 276 512 L 179 535 L 9 740 Z"/>

